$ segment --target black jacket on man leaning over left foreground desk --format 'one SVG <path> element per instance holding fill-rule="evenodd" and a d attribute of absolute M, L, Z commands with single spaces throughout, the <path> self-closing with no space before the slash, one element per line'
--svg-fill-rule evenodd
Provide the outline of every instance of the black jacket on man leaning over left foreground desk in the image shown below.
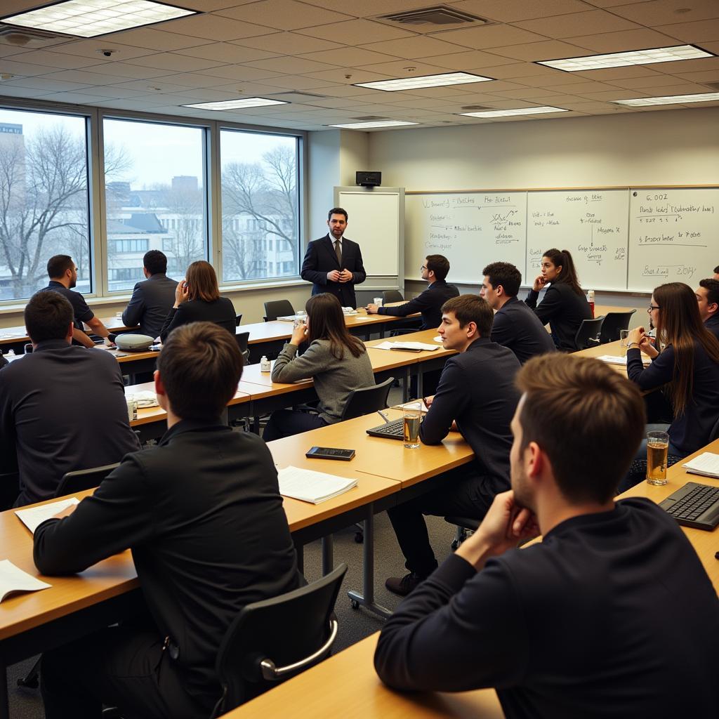
<path fill-rule="evenodd" d="M 209 715 L 229 624 L 244 605 L 298 586 L 267 445 L 216 422 L 180 421 L 125 457 L 71 516 L 35 531 L 43 574 L 82 572 L 128 548 L 159 635 Z"/>

